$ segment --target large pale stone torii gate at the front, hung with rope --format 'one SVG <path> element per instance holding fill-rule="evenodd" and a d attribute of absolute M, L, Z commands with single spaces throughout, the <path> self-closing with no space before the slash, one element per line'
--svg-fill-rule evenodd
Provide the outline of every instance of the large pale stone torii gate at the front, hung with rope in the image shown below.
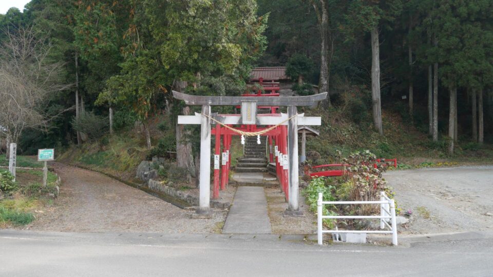
<path fill-rule="evenodd" d="M 178 124 L 200 124 L 200 176 L 199 176 L 199 209 L 197 213 L 206 213 L 210 207 L 211 194 L 211 117 L 222 124 L 242 124 L 241 115 L 211 115 L 211 106 L 237 106 L 242 102 L 255 102 L 258 106 L 288 106 L 288 114 L 258 114 L 257 125 L 288 125 L 288 155 L 289 155 L 289 186 L 288 210 L 299 211 L 298 190 L 298 124 L 320 125 L 319 116 L 304 116 L 297 114 L 296 106 L 312 106 L 327 97 L 327 92 L 309 96 L 279 96 L 279 97 L 241 97 L 241 96 L 198 96 L 173 91 L 173 96 L 185 101 L 187 105 L 200 105 L 202 111 L 195 115 L 179 115 Z M 295 116 L 297 114 L 297 116 Z M 288 122 L 285 122 L 291 118 Z M 285 122 L 285 123 L 283 123 Z"/>

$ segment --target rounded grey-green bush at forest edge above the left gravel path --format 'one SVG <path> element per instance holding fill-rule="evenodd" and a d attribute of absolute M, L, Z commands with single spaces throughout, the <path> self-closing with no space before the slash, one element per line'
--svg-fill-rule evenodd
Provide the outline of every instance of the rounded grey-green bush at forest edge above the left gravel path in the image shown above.
<path fill-rule="evenodd" d="M 91 140 L 94 140 L 108 132 L 108 117 L 96 115 L 92 112 L 84 112 L 79 116 L 79 119 L 73 118 L 72 127 L 76 131 L 87 134 Z"/>

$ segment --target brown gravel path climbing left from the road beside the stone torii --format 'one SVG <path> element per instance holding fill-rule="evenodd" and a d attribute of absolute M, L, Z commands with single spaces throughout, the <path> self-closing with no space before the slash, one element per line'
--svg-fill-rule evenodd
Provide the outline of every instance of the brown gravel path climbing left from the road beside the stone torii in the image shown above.
<path fill-rule="evenodd" d="M 103 174 L 54 164 L 62 177 L 60 197 L 36 214 L 29 229 L 49 231 L 210 233 L 225 219 L 191 219 L 185 211 Z"/>

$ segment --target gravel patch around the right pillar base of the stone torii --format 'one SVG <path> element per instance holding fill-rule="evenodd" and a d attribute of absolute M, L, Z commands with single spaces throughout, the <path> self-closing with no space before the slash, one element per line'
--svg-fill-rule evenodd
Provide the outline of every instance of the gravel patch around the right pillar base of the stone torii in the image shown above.
<path fill-rule="evenodd" d="M 308 210 L 304 196 L 299 196 L 299 209 L 303 215 L 284 216 L 284 211 L 288 208 L 284 193 L 279 191 L 279 187 L 264 190 L 273 234 L 314 234 L 317 232 L 317 219 L 315 214 Z"/>

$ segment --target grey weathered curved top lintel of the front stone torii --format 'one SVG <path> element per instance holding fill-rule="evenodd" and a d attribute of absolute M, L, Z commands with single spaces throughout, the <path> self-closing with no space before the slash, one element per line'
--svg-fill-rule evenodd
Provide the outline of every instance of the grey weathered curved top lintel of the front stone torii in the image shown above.
<path fill-rule="evenodd" d="M 173 97 L 185 101 L 186 105 L 236 106 L 242 100 L 255 100 L 258 106 L 313 106 L 327 98 L 327 92 L 308 96 L 242 97 L 242 96 L 203 96 L 189 95 L 173 91 Z"/>

